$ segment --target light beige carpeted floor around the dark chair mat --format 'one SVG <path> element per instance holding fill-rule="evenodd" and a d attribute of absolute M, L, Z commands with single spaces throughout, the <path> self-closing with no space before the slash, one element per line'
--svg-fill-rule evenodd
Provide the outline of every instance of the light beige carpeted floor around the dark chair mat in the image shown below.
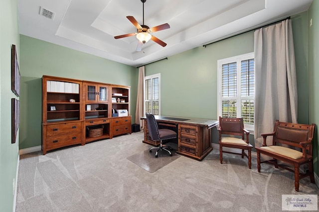
<path fill-rule="evenodd" d="M 282 195 L 318 194 L 309 178 L 214 149 L 203 161 L 180 156 L 157 171 L 129 159 L 148 150 L 133 133 L 20 155 L 16 212 L 281 212 Z M 155 152 L 153 152 L 155 154 Z M 169 157 L 169 156 L 168 156 Z"/>

